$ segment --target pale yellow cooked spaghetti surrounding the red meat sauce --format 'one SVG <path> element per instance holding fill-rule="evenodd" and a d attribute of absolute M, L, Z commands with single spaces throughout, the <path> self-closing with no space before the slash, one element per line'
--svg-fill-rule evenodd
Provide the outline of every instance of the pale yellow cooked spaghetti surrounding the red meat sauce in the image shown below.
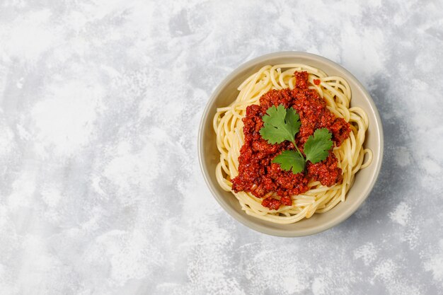
<path fill-rule="evenodd" d="M 238 175 L 238 156 L 243 146 L 243 117 L 249 105 L 258 105 L 260 98 L 272 89 L 282 90 L 296 87 L 294 72 L 308 73 L 308 88 L 314 89 L 326 103 L 326 108 L 350 123 L 350 134 L 340 146 L 333 147 L 333 155 L 338 159 L 337 166 L 343 171 L 340 182 L 330 187 L 321 185 L 318 180 L 307 183 L 308 190 L 299 195 L 291 195 L 292 205 L 283 205 L 278 209 L 263 207 L 263 199 L 251 192 L 234 192 L 232 180 Z M 231 191 L 241 204 L 246 214 L 278 224 L 292 224 L 314 213 L 328 212 L 339 202 L 344 202 L 346 193 L 352 186 L 355 173 L 369 166 L 372 151 L 364 149 L 364 137 L 368 127 L 366 113 L 357 107 L 350 108 L 351 91 L 347 82 L 338 76 L 327 76 L 320 69 L 304 64 L 279 64 L 263 66 L 258 72 L 248 77 L 238 87 L 238 96 L 231 105 L 218 108 L 213 125 L 217 134 L 217 148 L 220 162 L 216 168 L 219 185 Z M 364 162 L 365 155 L 367 161 Z"/>

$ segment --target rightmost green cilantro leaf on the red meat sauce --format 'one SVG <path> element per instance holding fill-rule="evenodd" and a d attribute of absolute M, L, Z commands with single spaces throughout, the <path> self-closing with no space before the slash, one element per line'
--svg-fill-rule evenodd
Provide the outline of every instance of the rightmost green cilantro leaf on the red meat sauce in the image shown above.
<path fill-rule="evenodd" d="M 318 163 L 328 158 L 329 150 L 333 146 L 331 138 L 332 134 L 327 128 L 316 129 L 304 143 L 306 161 Z"/>

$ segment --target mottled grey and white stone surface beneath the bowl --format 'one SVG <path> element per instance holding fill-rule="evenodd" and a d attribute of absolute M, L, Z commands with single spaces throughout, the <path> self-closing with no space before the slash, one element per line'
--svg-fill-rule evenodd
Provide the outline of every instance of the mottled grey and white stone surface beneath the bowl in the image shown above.
<path fill-rule="evenodd" d="M 197 163 L 210 93 L 282 50 L 385 132 L 367 202 L 306 238 L 238 224 Z M 442 57 L 442 1 L 2 0 L 0 294 L 443 294 Z"/>

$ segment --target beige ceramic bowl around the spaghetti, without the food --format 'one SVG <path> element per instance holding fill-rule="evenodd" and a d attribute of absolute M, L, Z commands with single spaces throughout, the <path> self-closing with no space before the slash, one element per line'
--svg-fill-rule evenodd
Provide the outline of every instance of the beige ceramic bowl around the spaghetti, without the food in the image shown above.
<path fill-rule="evenodd" d="M 369 129 L 366 134 L 367 138 L 364 141 L 364 147 L 372 150 L 374 158 L 371 165 L 360 170 L 355 176 L 355 183 L 347 193 L 345 202 L 341 202 L 329 212 L 314 214 L 311 218 L 303 219 L 295 224 L 273 224 L 269 221 L 248 216 L 241 210 L 241 206 L 236 197 L 234 197 L 231 192 L 226 192 L 219 187 L 215 178 L 215 168 L 219 162 L 219 151 L 215 144 L 212 118 L 217 108 L 225 107 L 236 99 L 238 95 L 237 87 L 248 76 L 267 64 L 288 63 L 308 64 L 309 66 L 315 66 L 325 71 L 329 76 L 341 76 L 346 79 L 352 91 L 351 106 L 359 106 L 369 117 Z M 379 175 L 381 161 L 383 159 L 383 129 L 381 127 L 379 112 L 369 93 L 367 93 L 362 84 L 342 66 L 324 57 L 306 52 L 275 52 L 266 54 L 246 62 L 232 71 L 232 73 L 220 83 L 217 89 L 215 89 L 211 98 L 209 98 L 209 102 L 203 112 L 202 122 L 200 123 L 198 141 L 200 167 L 202 168 L 203 175 L 205 175 L 209 190 L 215 199 L 217 199 L 217 202 L 219 202 L 226 212 L 242 224 L 251 229 L 255 229 L 255 231 L 273 236 L 307 236 L 325 231 L 340 224 L 340 222 L 347 219 L 347 217 L 357 210 L 369 195 L 369 192 L 371 192 L 376 178 Z"/>

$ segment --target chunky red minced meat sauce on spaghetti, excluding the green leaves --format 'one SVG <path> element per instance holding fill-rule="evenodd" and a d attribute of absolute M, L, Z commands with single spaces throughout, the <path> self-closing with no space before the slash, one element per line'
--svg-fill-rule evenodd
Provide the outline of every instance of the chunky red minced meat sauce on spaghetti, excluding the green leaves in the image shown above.
<path fill-rule="evenodd" d="M 301 152 L 308 137 L 318 128 L 328 128 L 336 146 L 340 146 L 350 134 L 349 123 L 335 117 L 318 93 L 308 88 L 308 73 L 296 71 L 294 75 L 296 86 L 293 90 L 284 88 L 265 93 L 260 98 L 260 105 L 246 108 L 246 117 L 243 118 L 245 141 L 238 156 L 238 176 L 232 180 L 232 190 L 251 192 L 255 197 L 263 198 L 262 205 L 269 209 L 278 209 L 282 204 L 291 206 L 291 196 L 306 192 L 309 180 L 318 180 L 327 186 L 342 180 L 342 170 L 337 166 L 338 160 L 332 149 L 326 160 L 315 164 L 308 161 L 306 173 L 294 174 L 282 170 L 278 163 L 271 163 L 282 151 L 295 149 L 290 141 L 268 144 L 260 136 L 262 117 L 272 105 L 297 110 L 301 126 L 295 142 Z"/>

